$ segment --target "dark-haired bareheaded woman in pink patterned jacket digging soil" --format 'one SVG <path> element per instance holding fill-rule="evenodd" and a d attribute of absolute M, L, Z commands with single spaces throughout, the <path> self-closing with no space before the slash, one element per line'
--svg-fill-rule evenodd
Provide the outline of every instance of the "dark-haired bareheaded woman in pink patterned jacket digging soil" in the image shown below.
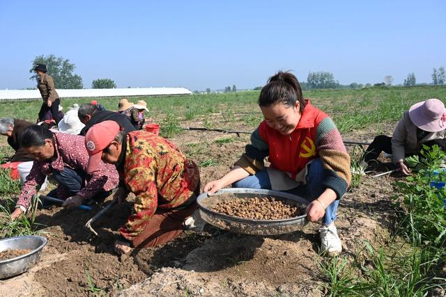
<path fill-rule="evenodd" d="M 52 174 L 59 186 L 50 192 L 66 200 L 64 205 L 82 204 L 91 198 L 105 198 L 118 185 L 118 172 L 110 164 L 100 162 L 95 171 L 86 173 L 89 154 L 84 137 L 66 133 L 53 134 L 49 129 L 32 125 L 20 135 L 20 146 L 34 159 L 33 168 L 17 201 L 11 218 L 17 218 L 28 209 L 36 186 L 43 184 L 45 177 Z"/>

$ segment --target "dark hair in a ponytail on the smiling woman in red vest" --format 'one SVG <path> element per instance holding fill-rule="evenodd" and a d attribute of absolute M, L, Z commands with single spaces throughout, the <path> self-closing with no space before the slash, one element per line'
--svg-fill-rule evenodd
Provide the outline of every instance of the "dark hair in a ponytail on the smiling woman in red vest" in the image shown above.
<path fill-rule="evenodd" d="M 300 112 L 305 109 L 305 101 L 302 96 L 302 88 L 298 78 L 291 72 L 279 71 L 268 79 L 259 96 L 259 106 L 268 107 L 283 102 L 286 107 L 300 103 Z"/>

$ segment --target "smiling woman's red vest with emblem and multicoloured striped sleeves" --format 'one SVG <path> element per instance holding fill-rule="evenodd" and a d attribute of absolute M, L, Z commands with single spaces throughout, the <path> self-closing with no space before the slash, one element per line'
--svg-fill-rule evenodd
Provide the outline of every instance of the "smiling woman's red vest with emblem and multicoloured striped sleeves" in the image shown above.
<path fill-rule="evenodd" d="M 268 156 L 270 166 L 287 173 L 289 177 L 305 183 L 306 165 L 320 158 L 324 168 L 323 186 L 331 188 L 337 199 L 346 192 L 351 182 L 350 156 L 341 134 L 332 119 L 308 101 L 298 126 L 290 135 L 282 135 L 261 122 L 252 133 L 251 144 L 236 162 L 249 174 L 263 169 Z"/>

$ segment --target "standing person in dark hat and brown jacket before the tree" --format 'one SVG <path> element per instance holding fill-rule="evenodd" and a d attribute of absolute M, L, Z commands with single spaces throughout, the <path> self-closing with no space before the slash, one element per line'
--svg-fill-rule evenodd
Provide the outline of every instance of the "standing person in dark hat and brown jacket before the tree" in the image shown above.
<path fill-rule="evenodd" d="M 51 111 L 52 118 L 56 121 L 56 124 L 59 124 L 61 120 L 61 117 L 59 116 L 59 104 L 61 104 L 61 99 L 56 92 L 52 77 L 47 74 L 47 65 L 37 64 L 36 67 L 34 67 L 34 71 L 36 71 L 36 74 L 38 75 L 37 88 L 43 99 L 37 122 L 42 122 L 45 119 L 45 114 L 48 111 Z"/>

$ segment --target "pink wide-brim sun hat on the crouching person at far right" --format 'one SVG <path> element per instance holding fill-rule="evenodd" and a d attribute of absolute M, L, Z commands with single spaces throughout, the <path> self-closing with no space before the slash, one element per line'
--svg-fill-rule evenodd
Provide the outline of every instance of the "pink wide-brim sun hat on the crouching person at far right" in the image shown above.
<path fill-rule="evenodd" d="M 424 131 L 443 131 L 446 129 L 445 104 L 438 99 L 415 103 L 409 109 L 409 118 Z"/>

